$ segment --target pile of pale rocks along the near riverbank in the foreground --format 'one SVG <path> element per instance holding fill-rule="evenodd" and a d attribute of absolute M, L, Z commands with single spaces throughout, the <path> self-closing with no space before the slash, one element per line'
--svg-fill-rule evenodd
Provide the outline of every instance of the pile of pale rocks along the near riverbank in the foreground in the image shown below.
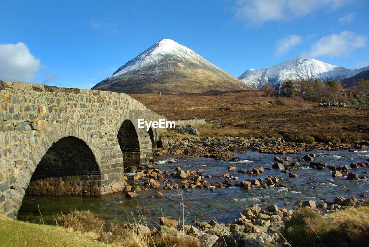
<path fill-rule="evenodd" d="M 354 209 L 360 206 L 368 206 L 369 200 L 356 199 L 355 197 L 337 197 L 330 201 L 324 201 L 316 205 L 314 201 L 296 201 L 293 209 L 279 209 L 277 205 L 267 205 L 265 209 L 258 205 L 249 205 L 242 213 L 238 213 L 235 220 L 227 223 L 197 222 L 193 225 L 182 225 L 177 220 L 165 217 L 160 218 L 158 228 L 145 225 L 137 226 L 140 231 L 155 236 L 181 237 L 184 241 L 197 243 L 200 247 L 227 246 L 227 247 L 248 247 L 248 246 L 290 246 L 282 233 L 284 222 L 289 220 L 299 209 L 310 209 L 323 216 L 343 210 Z M 124 227 L 133 227 L 125 224 Z"/>

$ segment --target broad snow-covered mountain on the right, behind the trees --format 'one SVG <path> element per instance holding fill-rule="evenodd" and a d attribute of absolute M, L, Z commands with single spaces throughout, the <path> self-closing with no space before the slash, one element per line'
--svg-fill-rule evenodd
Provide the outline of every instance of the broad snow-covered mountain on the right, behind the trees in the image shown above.
<path fill-rule="evenodd" d="M 350 70 L 315 59 L 297 57 L 272 67 L 246 70 L 238 79 L 251 87 L 261 89 L 265 83 L 277 86 L 286 80 L 342 80 L 367 69 L 369 66 Z"/>

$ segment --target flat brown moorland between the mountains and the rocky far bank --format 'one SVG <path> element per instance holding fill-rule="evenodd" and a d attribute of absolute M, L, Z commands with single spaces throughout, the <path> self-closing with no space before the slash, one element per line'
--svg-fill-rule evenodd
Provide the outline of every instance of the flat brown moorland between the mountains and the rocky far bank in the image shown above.
<path fill-rule="evenodd" d="M 200 138 L 283 138 L 312 143 L 361 143 L 369 140 L 369 107 L 318 107 L 318 103 L 268 97 L 261 90 L 187 94 L 130 94 L 169 120 L 205 118 Z"/>

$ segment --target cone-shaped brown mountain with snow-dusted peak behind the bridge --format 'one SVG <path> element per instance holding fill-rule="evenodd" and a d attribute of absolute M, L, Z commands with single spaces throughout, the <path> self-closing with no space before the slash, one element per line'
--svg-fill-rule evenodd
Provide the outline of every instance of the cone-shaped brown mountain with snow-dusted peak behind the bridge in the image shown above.
<path fill-rule="evenodd" d="M 196 52 L 161 39 L 92 89 L 119 93 L 253 90 Z"/>

